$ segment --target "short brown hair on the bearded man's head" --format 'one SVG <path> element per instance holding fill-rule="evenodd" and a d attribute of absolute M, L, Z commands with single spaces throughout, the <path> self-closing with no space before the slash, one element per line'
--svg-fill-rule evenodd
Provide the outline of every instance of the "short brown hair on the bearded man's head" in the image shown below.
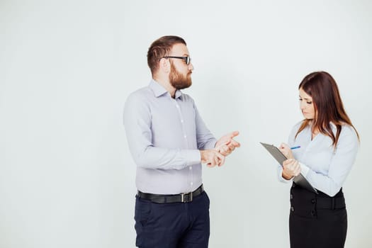
<path fill-rule="evenodd" d="M 147 64 L 150 67 L 152 75 L 154 75 L 159 68 L 159 60 L 161 60 L 162 57 L 167 56 L 171 51 L 171 47 L 179 43 L 186 45 L 183 38 L 174 35 L 167 35 L 155 40 L 151 44 L 147 52 Z"/>

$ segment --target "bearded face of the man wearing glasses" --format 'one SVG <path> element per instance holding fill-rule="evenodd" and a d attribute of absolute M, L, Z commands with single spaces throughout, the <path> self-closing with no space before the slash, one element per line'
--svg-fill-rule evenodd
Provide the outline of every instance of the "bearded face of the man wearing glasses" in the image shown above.
<path fill-rule="evenodd" d="M 184 44 L 176 44 L 172 47 L 169 56 L 186 57 L 188 49 Z M 186 89 L 191 86 L 191 73 L 193 65 L 186 64 L 185 60 L 170 58 L 171 70 L 169 72 L 169 82 L 174 89 Z"/>

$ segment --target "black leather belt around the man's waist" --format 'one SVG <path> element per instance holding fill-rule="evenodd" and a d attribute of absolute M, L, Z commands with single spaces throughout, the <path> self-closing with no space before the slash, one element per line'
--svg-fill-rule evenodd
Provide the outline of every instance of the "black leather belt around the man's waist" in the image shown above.
<path fill-rule="evenodd" d="M 154 193 L 143 193 L 137 191 L 137 196 L 142 199 L 150 200 L 152 203 L 189 203 L 193 201 L 193 197 L 199 196 L 203 193 L 203 184 L 196 188 L 193 192 L 180 193 L 177 195 L 158 195 Z"/>

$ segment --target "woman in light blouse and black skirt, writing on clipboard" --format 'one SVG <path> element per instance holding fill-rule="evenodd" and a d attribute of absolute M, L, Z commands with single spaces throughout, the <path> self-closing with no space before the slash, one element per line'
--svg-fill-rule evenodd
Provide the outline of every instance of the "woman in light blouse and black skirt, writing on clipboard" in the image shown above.
<path fill-rule="evenodd" d="M 301 173 L 318 193 L 293 182 L 291 247 L 344 247 L 347 215 L 342 184 L 354 164 L 359 135 L 330 74 L 312 72 L 298 89 L 305 119 L 293 127 L 288 145 L 279 147 L 288 157 L 279 175 L 281 181 L 291 181 Z"/>

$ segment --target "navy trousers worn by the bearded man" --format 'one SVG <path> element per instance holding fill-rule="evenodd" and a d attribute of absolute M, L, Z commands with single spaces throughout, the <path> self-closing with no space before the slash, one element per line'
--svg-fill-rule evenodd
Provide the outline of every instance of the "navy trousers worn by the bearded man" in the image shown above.
<path fill-rule="evenodd" d="M 189 203 L 135 200 L 136 246 L 206 248 L 210 234 L 209 198 L 205 191 Z"/>

